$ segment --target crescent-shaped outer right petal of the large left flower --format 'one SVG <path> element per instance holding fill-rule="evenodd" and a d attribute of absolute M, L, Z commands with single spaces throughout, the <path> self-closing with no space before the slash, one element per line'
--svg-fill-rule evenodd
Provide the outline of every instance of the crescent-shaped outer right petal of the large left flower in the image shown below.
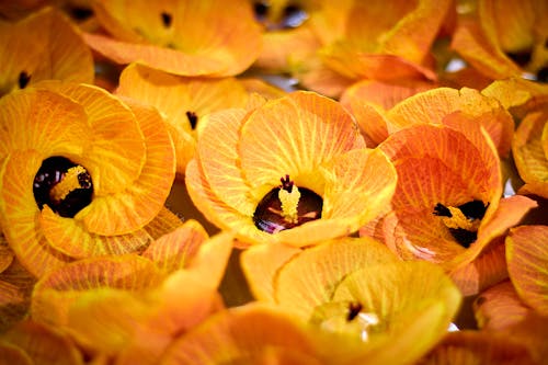
<path fill-rule="evenodd" d="M 87 230 L 93 233 L 122 235 L 144 227 L 163 207 L 175 178 L 173 145 L 162 118 L 150 107 L 129 105 L 145 136 L 146 161 L 125 191 L 95 196 L 82 213 Z"/>

